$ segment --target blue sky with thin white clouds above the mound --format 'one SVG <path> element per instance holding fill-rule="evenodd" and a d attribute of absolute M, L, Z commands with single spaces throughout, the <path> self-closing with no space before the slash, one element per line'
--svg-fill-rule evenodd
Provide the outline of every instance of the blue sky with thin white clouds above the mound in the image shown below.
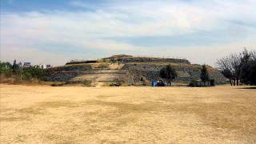
<path fill-rule="evenodd" d="M 63 65 L 132 54 L 217 58 L 256 49 L 255 0 L 1 0 L 1 61 Z"/>

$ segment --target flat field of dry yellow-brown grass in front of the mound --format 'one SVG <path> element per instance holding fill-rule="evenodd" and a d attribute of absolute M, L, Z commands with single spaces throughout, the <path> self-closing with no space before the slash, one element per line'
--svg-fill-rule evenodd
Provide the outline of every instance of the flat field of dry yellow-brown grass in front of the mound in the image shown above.
<path fill-rule="evenodd" d="M 256 90 L 1 87 L 1 143 L 256 143 Z"/>

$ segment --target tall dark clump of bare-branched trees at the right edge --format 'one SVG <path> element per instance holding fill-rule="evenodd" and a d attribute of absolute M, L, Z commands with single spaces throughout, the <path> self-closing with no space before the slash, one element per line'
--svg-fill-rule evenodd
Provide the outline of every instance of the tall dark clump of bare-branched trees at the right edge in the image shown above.
<path fill-rule="evenodd" d="M 256 51 L 242 50 L 217 60 L 218 69 L 229 79 L 231 86 L 256 85 Z"/>

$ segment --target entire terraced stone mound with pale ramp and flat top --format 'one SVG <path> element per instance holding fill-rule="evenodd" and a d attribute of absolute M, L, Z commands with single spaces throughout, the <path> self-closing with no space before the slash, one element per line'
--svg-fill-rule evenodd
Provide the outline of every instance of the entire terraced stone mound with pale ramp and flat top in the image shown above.
<path fill-rule="evenodd" d="M 115 55 L 100 60 L 69 62 L 48 70 L 46 81 L 52 82 L 126 82 L 139 83 L 141 78 L 147 82 L 159 80 L 162 67 L 171 65 L 178 73 L 176 82 L 190 82 L 200 78 L 200 65 L 191 65 L 186 59 L 145 58 L 130 55 Z M 207 66 L 210 78 L 216 83 L 226 82 L 226 78 L 211 66 Z"/>

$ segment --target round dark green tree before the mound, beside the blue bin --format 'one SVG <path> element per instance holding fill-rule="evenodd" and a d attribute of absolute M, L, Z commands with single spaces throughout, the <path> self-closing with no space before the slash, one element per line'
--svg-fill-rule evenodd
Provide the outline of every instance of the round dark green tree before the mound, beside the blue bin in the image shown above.
<path fill-rule="evenodd" d="M 171 81 L 177 78 L 178 74 L 170 65 L 160 70 L 160 77 L 166 79 L 167 85 L 171 86 Z"/>

